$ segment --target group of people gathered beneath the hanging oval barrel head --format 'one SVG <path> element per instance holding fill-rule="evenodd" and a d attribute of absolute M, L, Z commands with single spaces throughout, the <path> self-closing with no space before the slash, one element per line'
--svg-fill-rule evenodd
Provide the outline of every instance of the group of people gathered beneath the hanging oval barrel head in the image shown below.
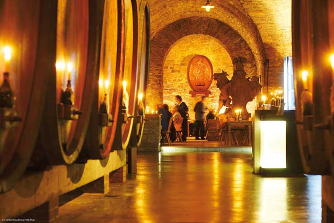
<path fill-rule="evenodd" d="M 206 96 L 202 96 L 201 100 L 196 103 L 194 107 L 195 112 L 195 123 L 193 124 L 195 127 L 194 136 L 196 139 L 206 139 L 206 113 L 207 107 L 205 106 Z M 175 96 L 175 105 L 169 108 L 167 104 L 163 104 L 159 106 L 158 112 L 161 114 L 161 134 L 165 134 L 165 132 L 170 131 L 170 138 L 171 141 L 175 141 L 176 137 L 176 130 L 175 125 L 181 124 L 182 127 L 182 141 L 187 141 L 188 135 L 188 114 L 189 108 L 188 106 L 182 102 L 182 97 L 180 95 Z M 213 114 L 214 115 L 214 114 Z M 210 117 L 209 117 L 210 116 Z M 212 112 L 209 112 L 208 118 L 214 119 L 215 117 L 211 117 Z M 172 118 L 172 125 L 169 129 L 170 119 Z"/>

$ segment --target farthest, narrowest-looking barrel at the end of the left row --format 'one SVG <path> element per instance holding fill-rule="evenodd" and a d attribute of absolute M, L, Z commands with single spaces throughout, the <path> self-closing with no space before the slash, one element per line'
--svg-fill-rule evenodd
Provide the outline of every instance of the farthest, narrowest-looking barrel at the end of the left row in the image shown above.
<path fill-rule="evenodd" d="M 146 91 L 150 66 L 150 8 L 147 1 L 139 6 L 139 44 L 138 44 L 138 76 L 135 124 L 131 135 L 132 147 L 139 147 L 143 136 L 146 111 Z"/>

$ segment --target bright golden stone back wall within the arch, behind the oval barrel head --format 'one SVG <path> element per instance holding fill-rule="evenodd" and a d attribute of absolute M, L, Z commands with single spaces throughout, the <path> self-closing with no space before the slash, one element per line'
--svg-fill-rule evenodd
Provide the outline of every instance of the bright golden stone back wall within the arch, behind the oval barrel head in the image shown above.
<path fill-rule="evenodd" d="M 187 80 L 187 69 L 190 59 L 196 55 L 204 55 L 210 59 L 214 73 L 225 70 L 233 74 L 233 64 L 229 53 L 216 38 L 209 35 L 195 34 L 180 38 L 170 49 L 163 65 L 163 103 L 174 105 L 175 95 L 181 95 L 189 107 L 189 115 L 194 119 L 193 108 L 202 95 L 192 97 L 191 87 Z M 231 76 L 232 77 L 232 76 Z M 230 77 L 230 78 L 231 78 Z M 211 94 L 207 98 L 207 107 L 217 109 L 220 91 L 213 80 L 209 88 Z"/>

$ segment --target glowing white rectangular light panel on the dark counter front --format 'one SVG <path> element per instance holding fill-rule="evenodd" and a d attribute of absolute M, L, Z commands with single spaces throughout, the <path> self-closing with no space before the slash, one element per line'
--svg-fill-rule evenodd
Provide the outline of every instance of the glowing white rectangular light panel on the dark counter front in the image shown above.
<path fill-rule="evenodd" d="M 262 168 L 286 168 L 286 121 L 261 121 Z"/>

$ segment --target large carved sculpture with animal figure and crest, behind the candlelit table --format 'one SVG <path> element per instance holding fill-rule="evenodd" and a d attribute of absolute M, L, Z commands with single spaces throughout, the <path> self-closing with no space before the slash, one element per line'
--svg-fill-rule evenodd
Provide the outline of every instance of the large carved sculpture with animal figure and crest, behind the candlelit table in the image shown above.
<path fill-rule="evenodd" d="M 222 73 L 214 74 L 214 80 L 217 80 L 217 88 L 220 90 L 217 112 L 225 105 L 232 108 L 226 110 L 226 115 L 233 116 L 233 110 L 241 109 L 243 119 L 249 117 L 246 105 L 254 99 L 262 86 L 259 84 L 257 77 L 246 78 L 247 74 L 244 70 L 246 62 L 245 57 L 233 59 L 234 72 L 231 80 L 227 78 L 228 74 L 224 70 L 222 70 Z"/>

